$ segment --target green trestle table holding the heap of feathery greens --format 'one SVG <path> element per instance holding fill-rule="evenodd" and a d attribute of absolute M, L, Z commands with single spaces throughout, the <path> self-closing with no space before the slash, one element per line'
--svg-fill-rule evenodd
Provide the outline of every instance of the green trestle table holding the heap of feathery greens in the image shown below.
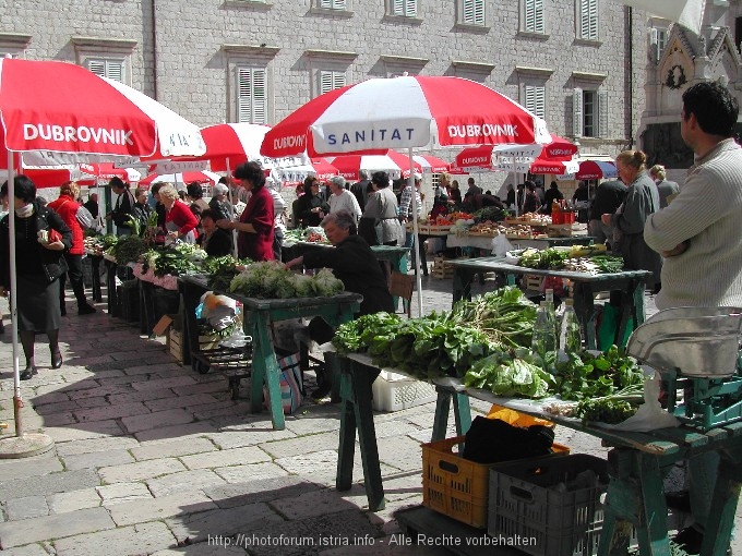
<path fill-rule="evenodd" d="M 189 346 L 198 346 L 199 330 L 195 325 L 195 309 L 201 301 L 201 295 L 210 289 L 206 277 L 201 275 L 181 276 L 178 278 L 178 285 L 185 316 L 183 318 L 185 338 Z M 250 409 L 253 413 L 261 411 L 263 407 L 263 385 L 265 384 L 271 399 L 268 409 L 273 427 L 283 431 L 285 421 L 279 387 L 280 368 L 278 368 L 273 342 L 268 336 L 271 323 L 289 318 L 321 316 L 331 326 L 338 326 L 352 319 L 354 314 L 360 311 L 360 303 L 363 298 L 351 292 L 343 292 L 328 298 L 291 299 L 256 299 L 222 291 L 215 293 L 227 295 L 242 304 L 243 330 L 253 340 Z M 183 362 L 185 363 L 185 361 Z"/>

